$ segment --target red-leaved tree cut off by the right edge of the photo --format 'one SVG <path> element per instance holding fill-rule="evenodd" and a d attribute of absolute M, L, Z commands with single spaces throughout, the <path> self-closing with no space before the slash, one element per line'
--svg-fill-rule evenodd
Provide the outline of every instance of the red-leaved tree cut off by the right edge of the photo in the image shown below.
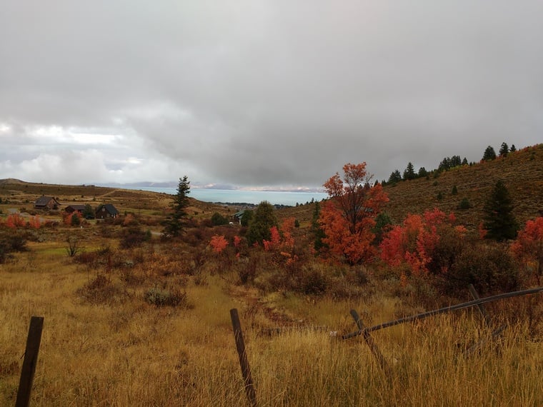
<path fill-rule="evenodd" d="M 534 263 L 537 281 L 543 277 L 543 217 L 527 221 L 512 244 L 513 253 L 525 263 Z"/>

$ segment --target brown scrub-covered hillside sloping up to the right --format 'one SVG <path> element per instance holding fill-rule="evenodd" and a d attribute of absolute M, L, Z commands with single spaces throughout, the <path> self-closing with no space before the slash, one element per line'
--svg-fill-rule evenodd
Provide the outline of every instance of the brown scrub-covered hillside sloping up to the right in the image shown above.
<path fill-rule="evenodd" d="M 442 172 L 434 178 L 401 181 L 384 187 L 389 195 L 385 211 L 394 222 L 407 213 L 422 213 L 439 208 L 454 212 L 459 223 L 477 227 L 483 217 L 483 206 L 494 184 L 502 179 L 514 200 L 514 215 L 524 223 L 542 216 L 543 210 L 543 144 L 527 147 L 494 161 L 461 166 Z M 457 186 L 458 194 L 452 195 Z M 442 199 L 438 199 L 439 193 Z M 472 208 L 460 210 L 458 205 L 467 198 Z"/>

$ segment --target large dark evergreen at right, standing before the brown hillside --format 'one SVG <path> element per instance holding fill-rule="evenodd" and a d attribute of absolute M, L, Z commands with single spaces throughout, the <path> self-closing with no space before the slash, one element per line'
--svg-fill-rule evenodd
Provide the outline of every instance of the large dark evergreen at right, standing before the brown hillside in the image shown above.
<path fill-rule="evenodd" d="M 483 211 L 487 238 L 505 241 L 517 237 L 519 223 L 513 215 L 513 201 L 503 181 L 497 181 Z"/>

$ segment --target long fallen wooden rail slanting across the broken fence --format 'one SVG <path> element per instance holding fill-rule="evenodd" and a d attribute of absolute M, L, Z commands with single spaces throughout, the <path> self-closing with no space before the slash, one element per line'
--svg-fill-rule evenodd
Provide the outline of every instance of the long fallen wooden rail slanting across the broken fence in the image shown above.
<path fill-rule="evenodd" d="M 447 307 L 444 307 L 444 308 L 436 309 L 434 311 L 427 311 L 427 312 L 424 312 L 424 313 L 419 313 L 417 315 L 407 316 L 405 318 L 399 318 L 399 319 L 397 319 L 395 321 L 380 323 L 379 325 L 370 326 L 369 328 L 359 329 L 359 331 L 352 332 L 352 333 L 347 333 L 347 335 L 343 335 L 342 338 L 343 339 L 354 338 L 354 336 L 360 336 L 360 335 L 365 334 L 365 333 L 369 333 L 369 332 L 373 332 L 373 331 L 379 331 L 379 329 L 389 328 L 389 326 L 399 325 L 400 323 L 417 321 L 419 319 L 428 318 L 429 316 L 438 315 L 440 313 L 447 313 L 447 312 L 456 311 L 456 310 L 462 309 L 462 308 L 469 308 L 469 307 L 472 307 L 472 306 L 479 306 L 480 304 L 483 304 L 483 303 L 489 303 L 489 302 L 501 300 L 501 299 L 504 299 L 504 298 L 527 296 L 529 294 L 536 294 L 536 293 L 541 293 L 541 292 L 543 292 L 543 287 L 530 288 L 529 290 L 513 291 L 512 293 L 503 293 L 503 294 L 498 294 L 497 296 L 479 298 L 478 300 L 468 301 L 467 303 L 459 303 L 459 304 L 454 305 L 454 306 L 447 306 Z"/>

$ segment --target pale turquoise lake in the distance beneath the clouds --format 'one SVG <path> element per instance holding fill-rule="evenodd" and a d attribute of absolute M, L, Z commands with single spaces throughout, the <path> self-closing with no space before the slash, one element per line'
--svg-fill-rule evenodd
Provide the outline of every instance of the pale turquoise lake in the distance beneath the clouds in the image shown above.
<path fill-rule="evenodd" d="M 156 188 L 154 186 L 127 187 L 125 189 L 141 189 L 142 191 L 163 192 L 175 195 L 176 188 Z M 328 197 L 324 192 L 292 192 L 292 191 L 253 191 L 246 189 L 198 189 L 191 188 L 189 196 L 203 202 L 243 203 L 258 205 L 268 201 L 273 205 L 296 206 L 307 202 L 321 201 Z"/>

